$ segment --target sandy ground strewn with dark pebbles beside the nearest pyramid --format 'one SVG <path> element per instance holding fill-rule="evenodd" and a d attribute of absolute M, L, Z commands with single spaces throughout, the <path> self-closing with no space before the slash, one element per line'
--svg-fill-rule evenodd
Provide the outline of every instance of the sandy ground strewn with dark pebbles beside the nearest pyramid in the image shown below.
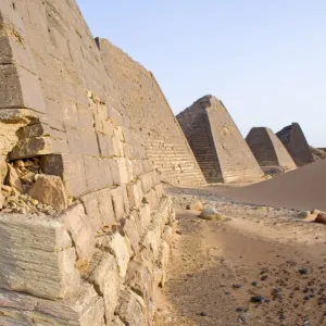
<path fill-rule="evenodd" d="M 179 225 L 155 326 L 326 325 L 326 226 L 210 190 L 170 193 Z M 229 220 L 184 210 L 198 198 Z"/>

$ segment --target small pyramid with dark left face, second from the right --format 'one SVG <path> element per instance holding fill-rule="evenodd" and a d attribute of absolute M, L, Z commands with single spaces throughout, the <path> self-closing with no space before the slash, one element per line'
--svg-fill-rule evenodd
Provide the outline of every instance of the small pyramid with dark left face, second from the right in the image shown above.
<path fill-rule="evenodd" d="M 287 149 L 269 128 L 252 128 L 246 140 L 261 166 L 296 167 Z"/>

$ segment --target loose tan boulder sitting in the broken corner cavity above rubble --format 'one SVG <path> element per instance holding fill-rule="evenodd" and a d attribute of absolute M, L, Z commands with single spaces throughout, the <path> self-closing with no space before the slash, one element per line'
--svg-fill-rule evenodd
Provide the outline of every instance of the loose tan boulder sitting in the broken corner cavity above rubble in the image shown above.
<path fill-rule="evenodd" d="M 53 206 L 58 211 L 67 208 L 67 198 L 63 183 L 54 175 L 38 175 L 29 190 L 29 196 L 39 202 Z"/>

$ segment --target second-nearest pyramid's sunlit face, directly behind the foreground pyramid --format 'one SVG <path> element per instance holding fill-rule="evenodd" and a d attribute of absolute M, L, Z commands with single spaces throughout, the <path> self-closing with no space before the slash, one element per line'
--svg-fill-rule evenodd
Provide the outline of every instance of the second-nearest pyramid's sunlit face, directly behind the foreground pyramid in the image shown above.
<path fill-rule="evenodd" d="M 152 73 L 105 39 L 97 39 L 130 126 L 140 131 L 162 180 L 176 186 L 204 184 L 187 140 Z"/>

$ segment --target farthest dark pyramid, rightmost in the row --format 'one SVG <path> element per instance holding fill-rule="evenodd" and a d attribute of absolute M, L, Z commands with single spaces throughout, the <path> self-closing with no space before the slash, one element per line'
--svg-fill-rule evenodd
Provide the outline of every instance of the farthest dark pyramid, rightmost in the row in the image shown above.
<path fill-rule="evenodd" d="M 281 140 L 298 166 L 314 162 L 310 146 L 298 123 L 283 128 L 276 136 Z"/>

